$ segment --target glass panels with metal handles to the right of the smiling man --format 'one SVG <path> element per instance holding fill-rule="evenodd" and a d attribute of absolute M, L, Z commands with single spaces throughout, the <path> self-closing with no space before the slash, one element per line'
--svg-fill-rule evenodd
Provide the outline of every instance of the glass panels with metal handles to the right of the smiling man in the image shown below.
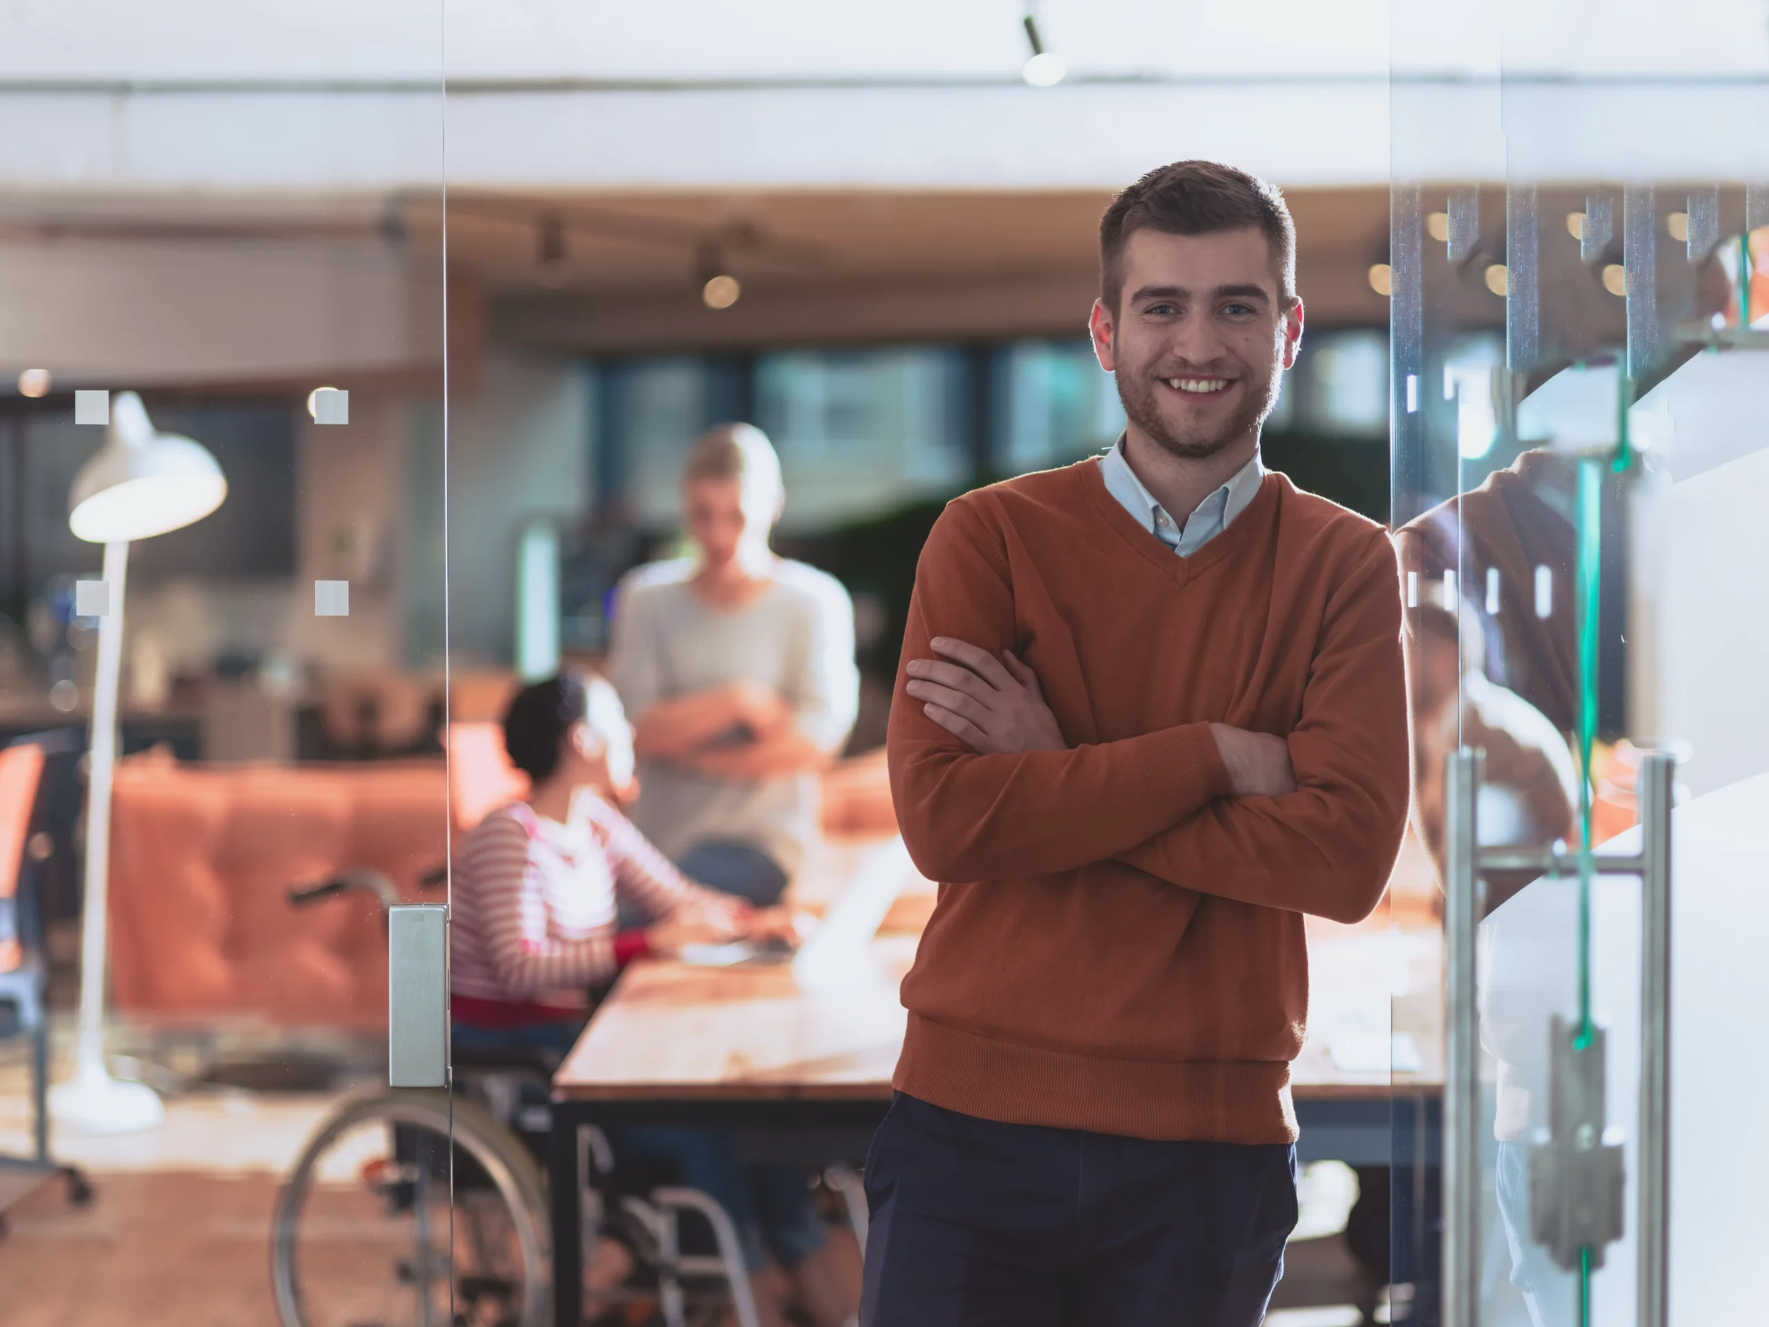
<path fill-rule="evenodd" d="M 1725 1030 L 1762 986 L 1769 88 L 1723 14 L 1599 41 L 1553 4 L 1413 74 L 1428 9 L 1394 19 L 1392 522 L 1444 1081 L 1394 1069 L 1390 1316 L 1704 1322 L 1764 1230 Z"/>

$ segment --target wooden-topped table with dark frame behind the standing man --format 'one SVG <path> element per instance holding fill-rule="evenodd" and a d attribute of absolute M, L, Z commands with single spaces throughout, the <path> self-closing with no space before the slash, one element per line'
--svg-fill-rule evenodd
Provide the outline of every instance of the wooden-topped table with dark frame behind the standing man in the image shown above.
<path fill-rule="evenodd" d="M 639 963 L 621 977 L 554 1078 L 555 1322 L 582 1323 L 580 1125 L 732 1129 L 757 1159 L 812 1166 L 865 1155 L 902 1047 L 897 987 L 927 915 L 918 897 L 909 892 L 895 909 L 904 931 L 881 929 L 872 968 L 837 984 L 805 989 L 789 964 Z M 1440 931 L 1426 917 L 1408 920 L 1309 918 L 1309 1040 L 1291 1074 L 1306 1161 L 1387 1166 L 1398 1099 L 1412 1099 L 1421 1120 L 1436 1109 Z"/>

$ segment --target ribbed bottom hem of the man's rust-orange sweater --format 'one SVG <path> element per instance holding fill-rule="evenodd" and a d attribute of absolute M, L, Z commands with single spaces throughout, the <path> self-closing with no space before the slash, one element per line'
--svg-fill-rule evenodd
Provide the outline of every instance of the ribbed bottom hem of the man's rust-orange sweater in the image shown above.
<path fill-rule="evenodd" d="M 1113 1060 L 909 1014 L 892 1086 L 999 1124 L 1152 1141 L 1295 1143 L 1288 1060 Z"/>

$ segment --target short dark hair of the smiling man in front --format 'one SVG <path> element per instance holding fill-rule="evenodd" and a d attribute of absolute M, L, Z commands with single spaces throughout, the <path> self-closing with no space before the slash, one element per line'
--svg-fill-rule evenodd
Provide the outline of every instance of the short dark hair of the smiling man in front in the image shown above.
<path fill-rule="evenodd" d="M 1277 186 L 1215 161 L 1157 166 L 1113 198 L 1100 218 L 1100 299 L 1118 311 L 1123 246 L 1136 230 L 1210 235 L 1247 226 L 1265 232 L 1277 265 L 1279 301 L 1290 308 L 1297 299 L 1297 223 Z"/>

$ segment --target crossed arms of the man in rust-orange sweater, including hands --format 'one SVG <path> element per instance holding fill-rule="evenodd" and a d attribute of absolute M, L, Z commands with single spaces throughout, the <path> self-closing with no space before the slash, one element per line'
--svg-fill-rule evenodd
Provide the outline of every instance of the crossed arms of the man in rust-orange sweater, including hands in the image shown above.
<path fill-rule="evenodd" d="M 1283 736 L 1198 722 L 1070 745 L 1012 653 L 1014 632 L 999 536 L 955 502 L 922 556 L 892 706 L 892 791 L 923 874 L 1008 879 L 1114 860 L 1199 894 L 1343 922 L 1375 908 L 1408 787 L 1385 538 L 1332 589 L 1300 718 Z"/>

